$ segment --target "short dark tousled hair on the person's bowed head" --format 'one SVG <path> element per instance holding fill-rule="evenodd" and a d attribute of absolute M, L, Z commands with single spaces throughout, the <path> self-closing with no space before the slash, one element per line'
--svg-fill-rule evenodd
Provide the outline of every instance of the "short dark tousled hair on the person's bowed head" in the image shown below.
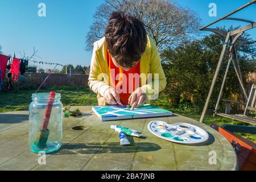
<path fill-rule="evenodd" d="M 132 68 L 146 50 L 147 33 L 141 20 L 125 13 L 113 12 L 105 31 L 110 55 L 124 68 Z"/>

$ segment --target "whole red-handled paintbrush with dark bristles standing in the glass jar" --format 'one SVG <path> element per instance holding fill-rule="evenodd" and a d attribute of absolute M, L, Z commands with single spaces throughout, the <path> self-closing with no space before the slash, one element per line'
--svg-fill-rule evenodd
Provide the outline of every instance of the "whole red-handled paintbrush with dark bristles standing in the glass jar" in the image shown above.
<path fill-rule="evenodd" d="M 48 136 L 49 136 L 48 123 L 51 117 L 52 106 L 55 100 L 55 96 L 56 96 L 55 92 L 50 92 L 48 97 L 47 107 L 46 107 L 46 113 L 44 113 L 42 129 L 38 132 L 38 135 L 36 136 L 36 140 L 35 140 L 35 145 L 39 148 L 46 146 L 46 142 L 48 140 Z"/>

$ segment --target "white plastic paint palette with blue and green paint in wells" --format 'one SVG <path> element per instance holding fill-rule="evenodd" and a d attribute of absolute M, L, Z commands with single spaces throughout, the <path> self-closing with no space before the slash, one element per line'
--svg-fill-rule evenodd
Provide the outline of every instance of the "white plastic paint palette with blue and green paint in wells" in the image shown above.
<path fill-rule="evenodd" d="M 151 121 L 148 123 L 148 130 L 160 138 L 176 143 L 202 143 L 209 138 L 205 130 L 188 123 L 169 125 L 163 121 Z"/>

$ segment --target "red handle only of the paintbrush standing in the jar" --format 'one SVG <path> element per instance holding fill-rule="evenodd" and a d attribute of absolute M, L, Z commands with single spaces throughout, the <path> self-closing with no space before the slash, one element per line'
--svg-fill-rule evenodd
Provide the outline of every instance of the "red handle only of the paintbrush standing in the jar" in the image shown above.
<path fill-rule="evenodd" d="M 46 107 L 46 113 L 44 113 L 44 119 L 43 119 L 43 125 L 42 125 L 42 131 L 46 131 L 48 127 L 49 118 L 51 117 L 52 112 L 52 106 L 53 102 L 55 100 L 55 92 L 50 92 L 47 107 Z"/>

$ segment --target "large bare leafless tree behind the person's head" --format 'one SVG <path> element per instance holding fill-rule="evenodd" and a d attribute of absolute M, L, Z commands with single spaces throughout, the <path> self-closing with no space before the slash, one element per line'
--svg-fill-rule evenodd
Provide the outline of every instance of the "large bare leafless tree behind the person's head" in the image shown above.
<path fill-rule="evenodd" d="M 113 11 L 123 11 L 137 16 L 162 51 L 177 46 L 197 35 L 200 18 L 195 12 L 163 0 L 105 0 L 94 14 L 94 23 L 86 36 L 86 51 L 92 51 L 93 43 L 104 36 L 108 19 Z"/>

